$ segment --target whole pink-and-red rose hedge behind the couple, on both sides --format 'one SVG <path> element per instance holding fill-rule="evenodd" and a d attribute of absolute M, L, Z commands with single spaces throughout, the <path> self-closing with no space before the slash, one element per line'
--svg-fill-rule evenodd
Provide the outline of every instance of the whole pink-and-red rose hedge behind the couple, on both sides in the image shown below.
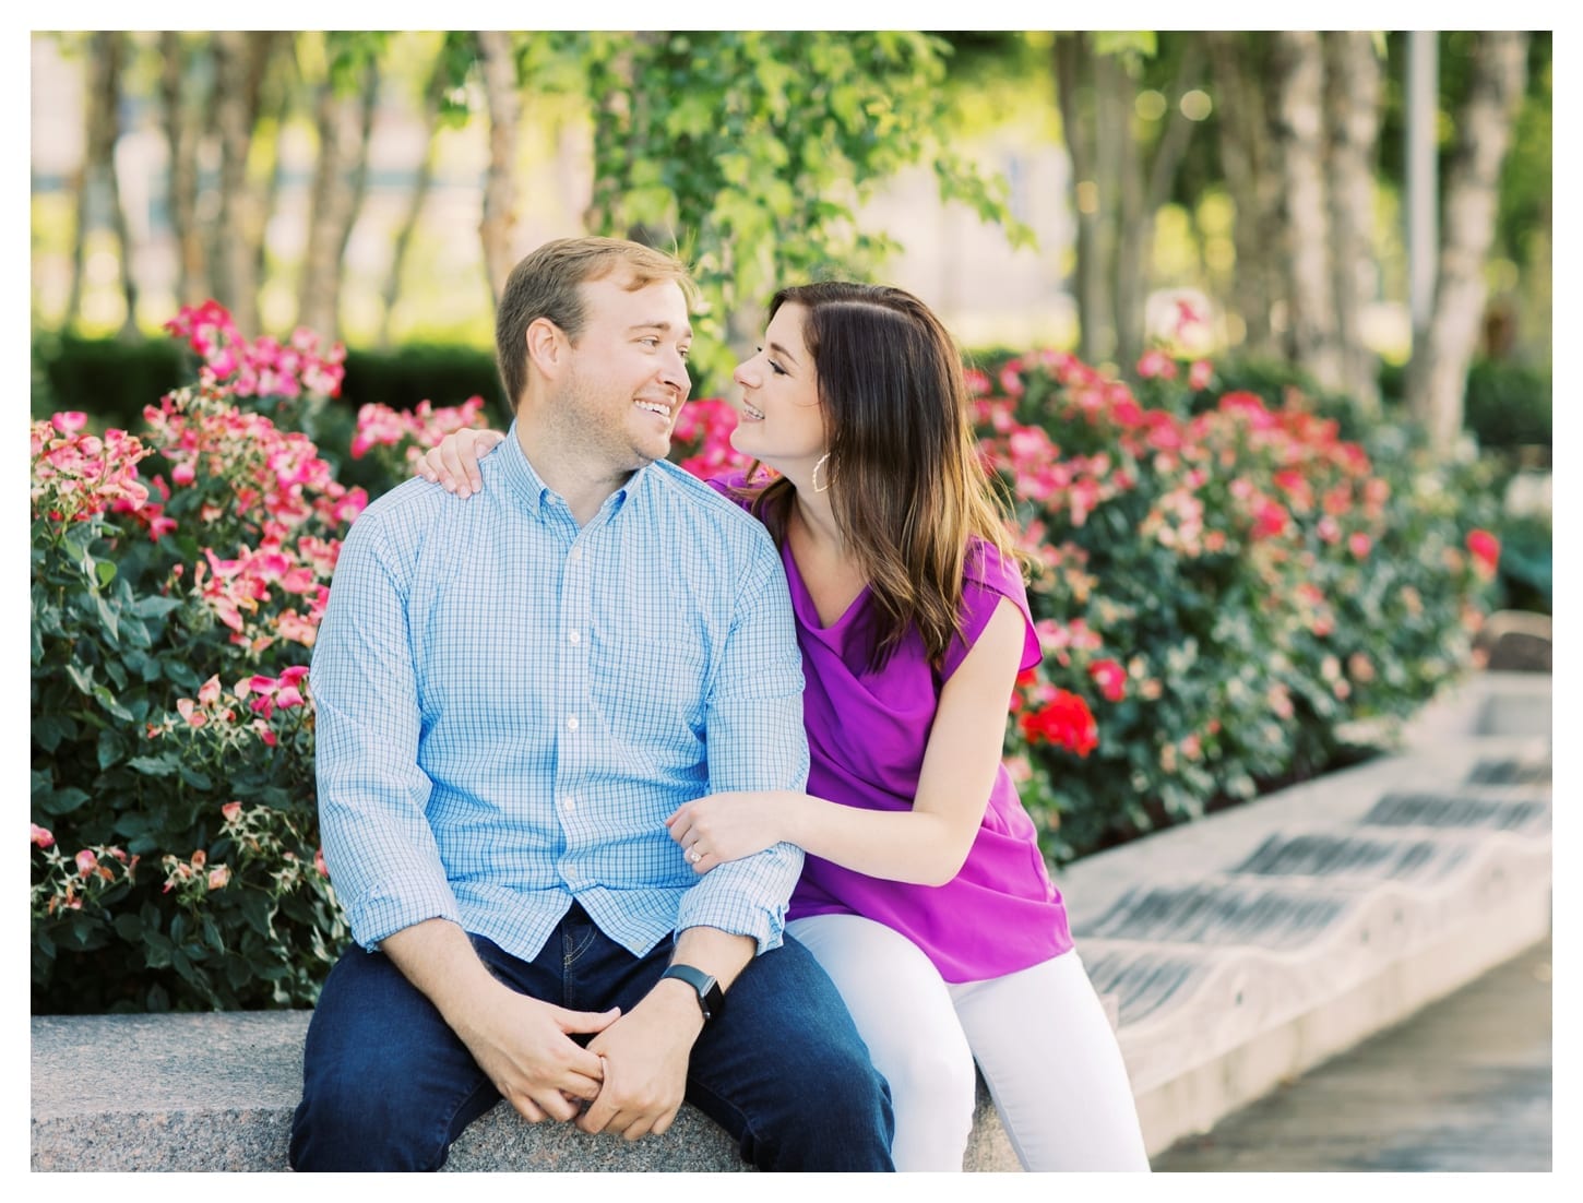
<path fill-rule="evenodd" d="M 36 1011 L 310 1005 L 347 940 L 318 853 L 307 671 L 340 538 L 342 350 L 171 331 L 203 367 L 138 434 L 32 435 Z M 1043 663 L 1007 761 L 1065 861 L 1388 739 L 1469 663 L 1499 559 L 1477 464 L 1358 440 L 1300 394 L 1217 394 L 1152 351 L 1133 389 L 1067 355 L 970 372 L 986 464 L 1034 579 Z M 372 491 L 483 402 L 364 405 Z M 673 457 L 744 461 L 720 400 Z M 345 427 L 342 427 L 345 429 Z"/>

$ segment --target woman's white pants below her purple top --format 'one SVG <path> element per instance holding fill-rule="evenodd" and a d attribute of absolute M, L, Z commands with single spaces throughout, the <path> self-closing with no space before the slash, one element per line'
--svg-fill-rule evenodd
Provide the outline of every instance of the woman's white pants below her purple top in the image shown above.
<path fill-rule="evenodd" d="M 856 915 L 787 931 L 825 967 L 891 1087 L 898 1170 L 956 1170 L 974 1062 L 1024 1170 L 1149 1168 L 1121 1046 L 1076 951 L 948 983 L 905 935 Z"/>

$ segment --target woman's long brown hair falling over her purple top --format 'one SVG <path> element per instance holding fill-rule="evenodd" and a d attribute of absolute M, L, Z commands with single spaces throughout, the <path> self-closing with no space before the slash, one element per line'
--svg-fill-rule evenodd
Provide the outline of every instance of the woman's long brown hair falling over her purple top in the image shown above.
<path fill-rule="evenodd" d="M 803 342 L 825 407 L 831 508 L 872 595 L 869 666 L 882 668 L 912 628 L 939 666 L 961 635 L 970 537 L 1023 568 L 1004 499 L 978 457 L 961 351 L 929 307 L 901 288 L 796 285 L 776 293 L 769 317 L 792 304 L 806 310 Z M 782 543 L 792 483 L 746 494 Z"/>

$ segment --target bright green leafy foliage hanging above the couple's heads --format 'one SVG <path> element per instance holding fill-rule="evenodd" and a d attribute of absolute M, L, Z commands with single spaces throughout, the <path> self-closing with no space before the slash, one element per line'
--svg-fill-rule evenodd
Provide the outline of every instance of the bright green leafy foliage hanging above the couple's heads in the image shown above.
<path fill-rule="evenodd" d="M 1000 179 L 945 144 L 950 47 L 924 33 L 594 33 L 589 228 L 674 242 L 701 283 L 695 358 L 728 370 L 785 282 L 869 277 L 896 244 L 858 228 L 861 203 L 909 165 L 942 196 L 1007 226 Z M 738 323 L 733 326 L 733 323 Z"/>

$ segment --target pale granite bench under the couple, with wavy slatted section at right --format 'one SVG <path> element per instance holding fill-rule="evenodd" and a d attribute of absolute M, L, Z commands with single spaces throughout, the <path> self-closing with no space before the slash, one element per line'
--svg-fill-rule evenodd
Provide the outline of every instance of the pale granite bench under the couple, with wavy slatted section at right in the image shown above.
<path fill-rule="evenodd" d="M 1057 877 L 1151 1154 L 1550 931 L 1550 679 L 1479 676 L 1409 734 Z M 285 1168 L 307 1018 L 35 1016 L 32 1168 Z M 500 1105 L 446 1168 L 747 1167 L 690 1108 L 627 1143 Z M 1018 1168 L 983 1083 L 964 1168 Z"/>

